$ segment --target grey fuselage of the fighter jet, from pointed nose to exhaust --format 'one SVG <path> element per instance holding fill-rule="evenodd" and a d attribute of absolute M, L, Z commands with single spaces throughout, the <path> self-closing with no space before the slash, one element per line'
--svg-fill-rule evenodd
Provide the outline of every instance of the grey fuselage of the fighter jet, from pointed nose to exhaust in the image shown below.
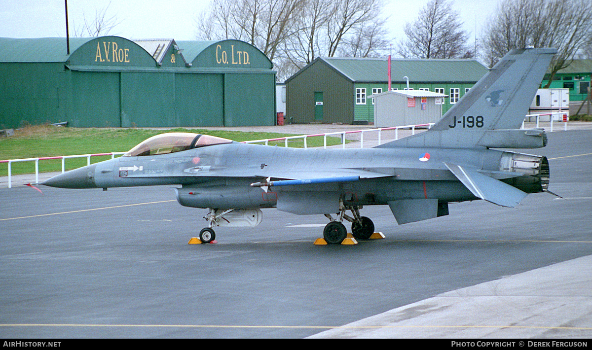
<path fill-rule="evenodd" d="M 385 205 L 400 199 L 448 203 L 478 198 L 445 163 L 515 182 L 515 175 L 504 177 L 504 173 L 514 173 L 508 164 L 515 154 L 485 148 L 321 150 L 233 142 L 169 154 L 123 156 L 69 171 L 44 184 L 69 188 L 182 185 L 176 189 L 179 203 L 195 208 L 272 208 L 282 193 L 295 196 L 302 191 L 318 196 L 338 193 L 353 205 Z M 361 172 L 362 176 L 352 182 L 271 187 L 268 191 L 250 186 L 266 178 L 330 178 L 348 171 Z M 363 176 L 365 172 L 367 177 Z M 520 189 L 539 192 L 528 186 Z"/>

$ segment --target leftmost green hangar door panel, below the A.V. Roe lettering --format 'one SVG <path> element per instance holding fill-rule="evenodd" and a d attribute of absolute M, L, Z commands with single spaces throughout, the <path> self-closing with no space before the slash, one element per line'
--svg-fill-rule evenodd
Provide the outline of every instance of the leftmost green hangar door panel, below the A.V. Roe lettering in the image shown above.
<path fill-rule="evenodd" d="M 72 71 L 72 115 L 76 128 L 120 127 L 118 72 Z"/>

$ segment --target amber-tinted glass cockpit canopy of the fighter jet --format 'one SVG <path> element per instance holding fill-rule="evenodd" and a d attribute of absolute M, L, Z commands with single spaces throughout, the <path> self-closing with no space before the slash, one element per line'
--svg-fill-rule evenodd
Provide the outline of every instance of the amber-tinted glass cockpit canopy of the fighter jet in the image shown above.
<path fill-rule="evenodd" d="M 229 144 L 231 140 L 190 132 L 168 132 L 153 136 L 132 148 L 124 157 L 141 155 L 167 154 L 191 150 L 191 148 L 205 147 L 218 144 Z"/>

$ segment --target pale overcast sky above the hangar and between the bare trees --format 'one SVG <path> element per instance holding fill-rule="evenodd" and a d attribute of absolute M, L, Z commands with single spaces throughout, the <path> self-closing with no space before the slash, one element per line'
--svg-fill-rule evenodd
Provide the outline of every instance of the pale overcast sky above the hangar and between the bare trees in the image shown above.
<path fill-rule="evenodd" d="M 395 40 L 404 38 L 406 22 L 416 20 L 419 10 L 429 0 L 384 0 L 388 28 Z M 455 0 L 455 9 L 464 29 L 474 42 L 475 33 L 493 14 L 500 0 Z M 95 18 L 95 12 L 108 6 L 107 17 L 115 16 L 120 24 L 109 34 L 129 39 L 172 38 L 195 40 L 195 17 L 207 8 L 210 0 L 69 0 L 70 36 L 73 28 Z M 0 0 L 0 37 L 66 37 L 64 0 Z M 394 44 L 394 42 L 393 42 Z M 394 45 L 393 45 L 394 46 Z"/>

